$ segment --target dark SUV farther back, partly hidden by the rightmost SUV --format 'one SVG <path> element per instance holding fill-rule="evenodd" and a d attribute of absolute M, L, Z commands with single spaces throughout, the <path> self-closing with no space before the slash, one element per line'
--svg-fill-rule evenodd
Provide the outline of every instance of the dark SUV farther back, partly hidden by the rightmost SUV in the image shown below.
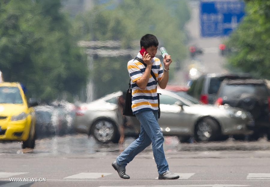
<path fill-rule="evenodd" d="M 204 104 L 214 104 L 220 83 L 224 79 L 247 79 L 252 78 L 248 74 L 206 74 L 202 75 L 190 86 L 187 93 Z"/>

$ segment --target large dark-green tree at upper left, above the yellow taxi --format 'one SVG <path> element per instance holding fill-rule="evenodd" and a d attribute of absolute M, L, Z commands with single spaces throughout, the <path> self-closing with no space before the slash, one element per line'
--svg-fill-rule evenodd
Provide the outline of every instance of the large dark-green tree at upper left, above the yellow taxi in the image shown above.
<path fill-rule="evenodd" d="M 0 2 L 0 69 L 4 80 L 21 82 L 29 96 L 69 101 L 85 87 L 86 55 L 70 34 L 60 0 Z"/>

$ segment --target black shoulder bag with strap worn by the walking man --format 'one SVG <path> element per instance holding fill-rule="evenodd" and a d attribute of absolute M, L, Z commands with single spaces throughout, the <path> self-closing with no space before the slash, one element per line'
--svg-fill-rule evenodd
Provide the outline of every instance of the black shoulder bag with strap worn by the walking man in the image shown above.
<path fill-rule="evenodd" d="M 145 67 L 147 67 L 147 64 L 143 62 L 142 59 L 136 57 L 134 58 L 135 60 L 138 60 L 140 63 L 142 63 Z M 152 77 L 156 80 L 156 85 L 158 83 L 157 78 L 155 76 L 155 73 L 151 70 L 151 75 Z M 126 94 L 126 100 L 125 100 L 125 105 L 123 107 L 123 115 L 127 115 L 127 116 L 135 116 L 132 112 L 131 109 L 131 105 L 132 105 L 132 89 L 131 89 L 131 79 L 128 83 L 129 88 L 127 90 L 127 94 Z M 160 101 L 159 101 L 159 95 L 161 95 L 161 93 L 158 93 L 158 118 L 160 118 Z"/>

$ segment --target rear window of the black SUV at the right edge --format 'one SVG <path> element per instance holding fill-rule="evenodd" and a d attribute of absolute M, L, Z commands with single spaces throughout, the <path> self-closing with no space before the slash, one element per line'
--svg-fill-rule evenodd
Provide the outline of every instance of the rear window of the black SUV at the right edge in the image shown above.
<path fill-rule="evenodd" d="M 221 97 L 238 98 L 243 94 L 256 95 L 256 97 L 264 98 L 268 96 L 268 90 L 263 84 L 226 84 L 220 92 Z"/>

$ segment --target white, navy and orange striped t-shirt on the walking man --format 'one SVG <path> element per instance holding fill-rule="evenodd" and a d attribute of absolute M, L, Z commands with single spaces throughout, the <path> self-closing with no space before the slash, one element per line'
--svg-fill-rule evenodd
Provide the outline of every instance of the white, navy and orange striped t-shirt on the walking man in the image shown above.
<path fill-rule="evenodd" d="M 143 59 L 142 55 L 138 53 L 138 58 Z M 152 58 L 152 71 L 155 73 L 158 80 L 161 79 L 163 75 L 163 67 L 158 58 Z M 146 67 L 140 63 L 138 60 L 132 59 L 128 62 L 128 73 L 131 78 L 131 88 L 132 88 L 132 111 L 133 114 L 141 112 L 143 110 L 158 110 L 158 94 L 156 80 L 150 74 L 146 89 L 140 89 L 136 84 L 136 80 L 139 80 Z"/>

